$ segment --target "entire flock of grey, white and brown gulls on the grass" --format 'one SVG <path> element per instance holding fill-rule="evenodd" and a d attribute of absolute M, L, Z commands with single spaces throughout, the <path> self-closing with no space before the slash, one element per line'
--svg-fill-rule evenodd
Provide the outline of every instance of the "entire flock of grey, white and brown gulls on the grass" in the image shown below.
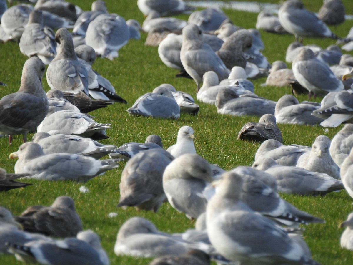
<path fill-rule="evenodd" d="M 283 2 L 278 17 L 259 13 L 256 28 L 293 34 L 286 63 L 272 65 L 261 53 L 259 31 L 232 24 L 220 10 L 195 11 L 181 0 L 138 0 L 146 19 L 125 21 L 110 14 L 104 1 L 91 11 L 59 0 L 31 0 L 33 5 L 7 8 L 0 0 L 0 39 L 16 41 L 30 57 L 23 65 L 20 88 L 0 100 L 0 133 L 23 135 L 14 174 L 0 170 L 0 190 L 30 184 L 17 178 L 87 182 L 128 160 L 121 174 L 118 207 L 157 212 L 163 202 L 196 219 L 195 229 L 180 234 L 158 231 L 141 217 L 120 228 L 116 255 L 158 257 L 151 264 L 318 264 L 301 236 L 300 224 L 324 223 L 301 211 L 279 194 L 325 195 L 346 190 L 353 198 L 353 57 L 336 45 L 304 46 L 303 37 L 338 39 L 352 48 L 352 31 L 339 39 L 327 27 L 344 21 L 341 0 L 324 1 L 318 16 L 300 0 Z M 12 2 L 10 3 L 12 4 Z M 134 2 L 133 4 L 136 4 Z M 190 14 L 189 20 L 169 17 Z M 325 24 L 326 23 L 326 24 Z M 53 31 L 55 30 L 55 33 Z M 68 31 L 67 29 L 72 29 Z M 179 129 L 175 145 L 163 149 L 161 137 L 120 147 L 103 145 L 110 124 L 86 114 L 114 102 L 126 103 L 112 84 L 92 68 L 96 56 L 113 60 L 129 39 L 148 32 L 146 45 L 178 76 L 196 83 L 197 100 L 213 104 L 220 114 L 253 115 L 239 140 L 259 141 L 252 167 L 225 171 L 197 154 L 194 130 Z M 49 87 L 45 93 L 42 77 Z M 285 95 L 276 102 L 257 96 L 247 78 L 268 76 L 269 86 L 292 85 L 294 95 L 320 103 L 299 102 Z M 1 76 L 0 76 L 1 78 Z M 256 88 L 255 88 L 256 90 Z M 178 119 L 199 106 L 191 95 L 161 84 L 127 108 L 131 115 Z M 312 146 L 283 145 L 276 123 L 336 127 L 347 123 L 333 139 L 320 135 Z M 32 141 L 26 135 L 35 132 Z M 109 159 L 101 159 L 109 155 Z M 67 170 L 62 170 L 67 169 Z M 84 192 L 84 190 L 82 190 Z M 353 213 L 343 222 L 342 248 L 353 249 Z M 30 206 L 20 216 L 0 207 L 0 254 L 40 264 L 109 264 L 99 237 L 82 231 L 74 201 L 60 196 L 51 206 Z"/>

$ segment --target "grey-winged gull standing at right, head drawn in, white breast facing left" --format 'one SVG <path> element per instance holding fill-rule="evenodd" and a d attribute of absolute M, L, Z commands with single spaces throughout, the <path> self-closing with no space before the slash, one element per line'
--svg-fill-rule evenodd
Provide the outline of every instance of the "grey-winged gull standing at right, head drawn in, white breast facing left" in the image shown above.
<path fill-rule="evenodd" d="M 292 64 L 295 79 L 309 90 L 309 98 L 313 94 L 327 94 L 344 88 L 330 67 L 316 59 L 311 49 L 302 49 Z"/>

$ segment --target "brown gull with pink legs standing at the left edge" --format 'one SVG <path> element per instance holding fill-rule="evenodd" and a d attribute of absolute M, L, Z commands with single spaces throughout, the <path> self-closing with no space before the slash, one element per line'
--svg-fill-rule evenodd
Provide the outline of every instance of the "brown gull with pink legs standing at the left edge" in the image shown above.
<path fill-rule="evenodd" d="M 0 99 L 0 134 L 26 135 L 42 122 L 48 113 L 48 98 L 42 87 L 45 66 L 38 57 L 29 58 L 23 65 L 21 85 L 17 92 Z"/>

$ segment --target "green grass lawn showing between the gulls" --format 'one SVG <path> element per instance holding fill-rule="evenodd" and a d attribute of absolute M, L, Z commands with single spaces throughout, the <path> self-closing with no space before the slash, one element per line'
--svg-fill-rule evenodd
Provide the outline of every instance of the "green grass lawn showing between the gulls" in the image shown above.
<path fill-rule="evenodd" d="M 71 1 L 80 5 L 83 10 L 90 10 L 91 1 Z M 279 1 L 266 1 L 273 2 Z M 346 12 L 353 10 L 353 1 L 343 1 Z M 136 1 L 131 0 L 106 0 L 108 10 L 120 14 L 126 20 L 136 18 L 143 22 L 143 15 L 138 10 Z M 322 0 L 304 1 L 307 8 L 318 11 Z M 233 22 L 244 28 L 254 28 L 256 13 L 224 10 Z M 187 19 L 187 16 L 178 16 Z M 346 36 L 353 26 L 352 21 L 346 21 L 337 28 L 332 28 L 335 34 Z M 294 41 L 291 35 L 275 35 L 261 32 L 265 43 L 263 54 L 270 63 L 275 60 L 284 60 L 287 46 Z M 108 78 L 117 93 L 128 101 L 127 105 L 114 104 L 108 108 L 97 110 L 91 114 L 98 122 L 112 123 L 112 129 L 107 131 L 110 139 L 103 143 L 113 143 L 117 146 L 129 141 L 144 141 L 150 134 L 162 137 L 164 147 L 173 145 L 177 131 L 181 126 L 189 125 L 195 130 L 195 146 L 197 153 L 210 163 L 216 163 L 224 169 L 232 169 L 236 166 L 250 166 L 258 143 L 243 142 L 237 140 L 238 132 L 249 121 L 257 121 L 258 117 L 232 117 L 217 114 L 215 106 L 200 105 L 197 116 L 182 114 L 178 120 L 164 120 L 146 117 L 129 116 L 125 111 L 130 107 L 139 95 L 151 92 L 161 83 L 170 83 L 178 90 L 190 93 L 196 98 L 196 85 L 192 80 L 175 78 L 176 71 L 166 67 L 158 57 L 156 47 L 144 46 L 146 35 L 139 41 L 131 40 L 119 51 L 119 57 L 114 61 L 98 58 L 93 68 Z M 316 43 L 325 48 L 334 44 L 330 39 L 305 38 L 304 44 Z M 7 87 L 0 88 L 0 97 L 16 92 L 20 85 L 22 66 L 27 59 L 20 53 L 14 42 L 4 43 L 0 46 L 0 81 Z M 352 54 L 352 53 L 351 53 Z M 262 87 L 265 78 L 254 80 L 255 93 L 266 98 L 277 100 L 284 94 L 289 94 L 288 88 Z M 46 78 L 43 78 L 44 90 L 49 90 Z M 316 98 L 321 101 L 322 98 Z M 307 100 L 307 96 L 300 96 L 299 101 Z M 279 125 L 282 130 L 285 144 L 297 143 L 299 145 L 311 145 L 318 135 L 327 135 L 332 138 L 341 128 L 329 129 L 325 132 L 319 126 Z M 32 134 L 28 135 L 28 140 Z M 11 146 L 8 146 L 6 138 L 0 139 L 0 167 L 7 172 L 13 172 L 16 160 L 8 159 L 8 155 L 17 151 L 22 143 L 22 136 L 14 136 Z M 137 212 L 134 208 L 127 210 L 117 209 L 119 201 L 119 182 L 121 171 L 125 163 L 116 170 L 111 170 L 105 175 L 96 177 L 84 185 L 90 192 L 79 192 L 80 183 L 73 182 L 45 182 L 29 179 L 33 185 L 24 189 L 10 190 L 0 193 L 0 205 L 7 207 L 14 215 L 20 214 L 31 205 L 50 205 L 57 196 L 71 196 L 76 204 L 76 210 L 82 219 L 84 229 L 92 229 L 101 237 L 102 245 L 106 249 L 111 264 L 147 264 L 150 259 L 132 257 L 118 257 L 113 252 L 116 234 L 128 218 L 141 216 L 151 220 L 157 228 L 165 232 L 183 232 L 193 228 L 193 223 L 184 214 L 175 211 L 168 203 L 162 205 L 158 213 Z M 297 206 L 326 220 L 325 224 L 311 224 L 305 226 L 304 238 L 309 245 L 313 258 L 322 264 L 353 264 L 351 251 L 341 249 L 339 237 L 342 230 L 338 229 L 340 222 L 346 219 L 352 211 L 352 198 L 345 192 L 328 194 L 324 197 L 296 196 L 282 194 L 283 198 Z M 107 214 L 117 212 L 115 218 L 108 218 Z M 0 264 L 20 264 L 9 255 L 0 256 Z"/>

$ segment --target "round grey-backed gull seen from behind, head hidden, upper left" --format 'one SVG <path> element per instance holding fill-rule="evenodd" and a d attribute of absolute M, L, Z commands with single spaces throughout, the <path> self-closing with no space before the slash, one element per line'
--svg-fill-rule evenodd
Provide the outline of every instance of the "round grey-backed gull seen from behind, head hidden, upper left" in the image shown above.
<path fill-rule="evenodd" d="M 94 48 L 97 55 L 113 60 L 118 50 L 129 39 L 129 28 L 125 19 L 116 14 L 100 14 L 89 23 L 85 41 Z"/>

